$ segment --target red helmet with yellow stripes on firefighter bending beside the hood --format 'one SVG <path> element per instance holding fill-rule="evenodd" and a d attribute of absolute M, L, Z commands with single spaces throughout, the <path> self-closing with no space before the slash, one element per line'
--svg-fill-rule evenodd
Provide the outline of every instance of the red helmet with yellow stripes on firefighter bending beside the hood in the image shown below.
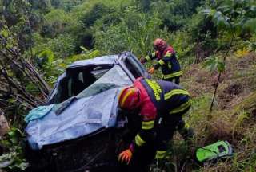
<path fill-rule="evenodd" d="M 140 91 L 134 86 L 124 88 L 118 96 L 118 105 L 122 109 L 138 108 Z"/>

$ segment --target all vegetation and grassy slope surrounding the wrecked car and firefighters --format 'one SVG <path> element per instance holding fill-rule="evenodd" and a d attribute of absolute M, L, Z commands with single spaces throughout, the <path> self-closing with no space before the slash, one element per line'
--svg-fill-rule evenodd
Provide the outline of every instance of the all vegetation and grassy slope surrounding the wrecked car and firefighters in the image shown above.
<path fill-rule="evenodd" d="M 170 166 L 255 170 L 254 0 L 2 0 L 0 13 L 0 108 L 11 126 L 24 127 L 26 112 L 43 104 L 48 84 L 53 86 L 71 62 L 122 51 L 140 58 L 162 37 L 185 70 L 181 82 L 193 97 L 187 120 L 197 133 L 194 143 L 226 139 L 236 150 L 234 158 L 217 165 L 194 167 L 174 158 Z M 12 141 L 16 136 L 2 139 L 7 149 L 0 166 L 8 160 L 7 170 L 26 167 L 22 143 Z"/>

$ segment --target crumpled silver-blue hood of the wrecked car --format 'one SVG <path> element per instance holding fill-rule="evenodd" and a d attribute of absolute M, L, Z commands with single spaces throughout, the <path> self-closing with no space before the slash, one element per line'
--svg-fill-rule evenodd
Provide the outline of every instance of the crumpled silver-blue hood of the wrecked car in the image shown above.
<path fill-rule="evenodd" d="M 26 134 L 34 150 L 45 145 L 76 139 L 102 127 L 114 127 L 121 87 L 72 101 L 59 115 L 54 110 L 42 119 L 30 121 Z"/>

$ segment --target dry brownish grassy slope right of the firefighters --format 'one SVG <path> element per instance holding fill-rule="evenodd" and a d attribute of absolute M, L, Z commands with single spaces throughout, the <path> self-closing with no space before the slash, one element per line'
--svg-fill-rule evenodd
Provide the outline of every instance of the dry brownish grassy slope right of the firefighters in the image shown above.
<path fill-rule="evenodd" d="M 256 53 L 234 55 L 227 58 L 227 68 L 221 78 L 214 110 L 209 111 L 218 74 L 202 69 L 202 64 L 186 68 L 182 85 L 193 98 L 190 114 L 186 117 L 194 128 L 194 145 L 203 147 L 218 140 L 227 140 L 234 146 L 234 158 L 194 166 L 193 162 L 175 162 L 183 171 L 254 171 L 256 169 Z M 176 156 L 181 157 L 180 146 L 176 144 Z M 183 158 L 186 153 L 183 152 Z M 178 160 L 181 160 L 178 158 Z M 177 159 L 176 159 L 177 161 Z M 193 166 L 193 168 L 192 168 Z"/>

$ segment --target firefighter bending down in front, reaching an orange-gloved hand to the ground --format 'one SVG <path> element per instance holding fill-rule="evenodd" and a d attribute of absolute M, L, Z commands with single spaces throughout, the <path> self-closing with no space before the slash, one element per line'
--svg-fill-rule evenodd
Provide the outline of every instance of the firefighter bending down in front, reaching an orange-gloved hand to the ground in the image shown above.
<path fill-rule="evenodd" d="M 132 86 L 122 89 L 118 105 L 125 111 L 137 109 L 142 119 L 140 131 L 130 147 L 118 155 L 121 162 L 130 163 L 134 152 L 150 142 L 156 143 L 155 158 L 165 158 L 167 143 L 173 138 L 175 130 L 184 139 L 191 139 L 194 135 L 182 120 L 182 115 L 190 109 L 190 95 L 178 84 L 138 78 Z"/>

